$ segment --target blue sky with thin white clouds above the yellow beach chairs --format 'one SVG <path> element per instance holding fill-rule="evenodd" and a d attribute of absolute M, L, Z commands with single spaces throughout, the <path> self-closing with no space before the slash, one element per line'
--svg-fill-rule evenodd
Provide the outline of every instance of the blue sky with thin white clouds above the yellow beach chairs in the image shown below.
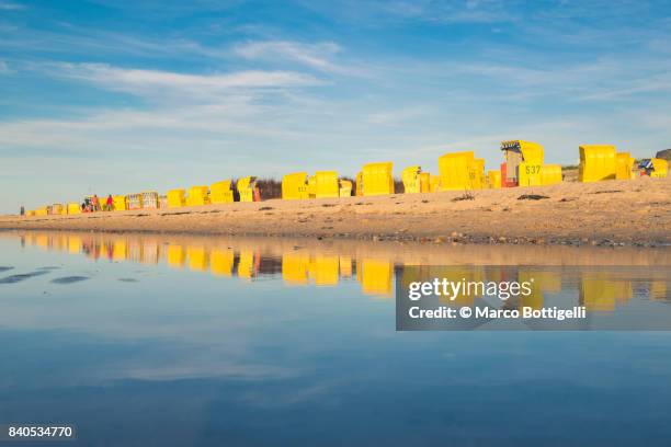
<path fill-rule="evenodd" d="M 664 1 L 0 0 L 0 213 L 530 139 L 671 147 Z"/>

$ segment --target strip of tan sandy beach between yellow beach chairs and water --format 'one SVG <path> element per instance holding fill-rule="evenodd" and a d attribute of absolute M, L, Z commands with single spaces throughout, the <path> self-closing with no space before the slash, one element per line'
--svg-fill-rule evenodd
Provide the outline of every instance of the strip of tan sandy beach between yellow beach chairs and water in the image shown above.
<path fill-rule="evenodd" d="M 539 196 L 539 197 L 538 197 Z M 432 243 L 671 243 L 671 179 L 0 217 L 0 229 L 143 231 Z"/>

